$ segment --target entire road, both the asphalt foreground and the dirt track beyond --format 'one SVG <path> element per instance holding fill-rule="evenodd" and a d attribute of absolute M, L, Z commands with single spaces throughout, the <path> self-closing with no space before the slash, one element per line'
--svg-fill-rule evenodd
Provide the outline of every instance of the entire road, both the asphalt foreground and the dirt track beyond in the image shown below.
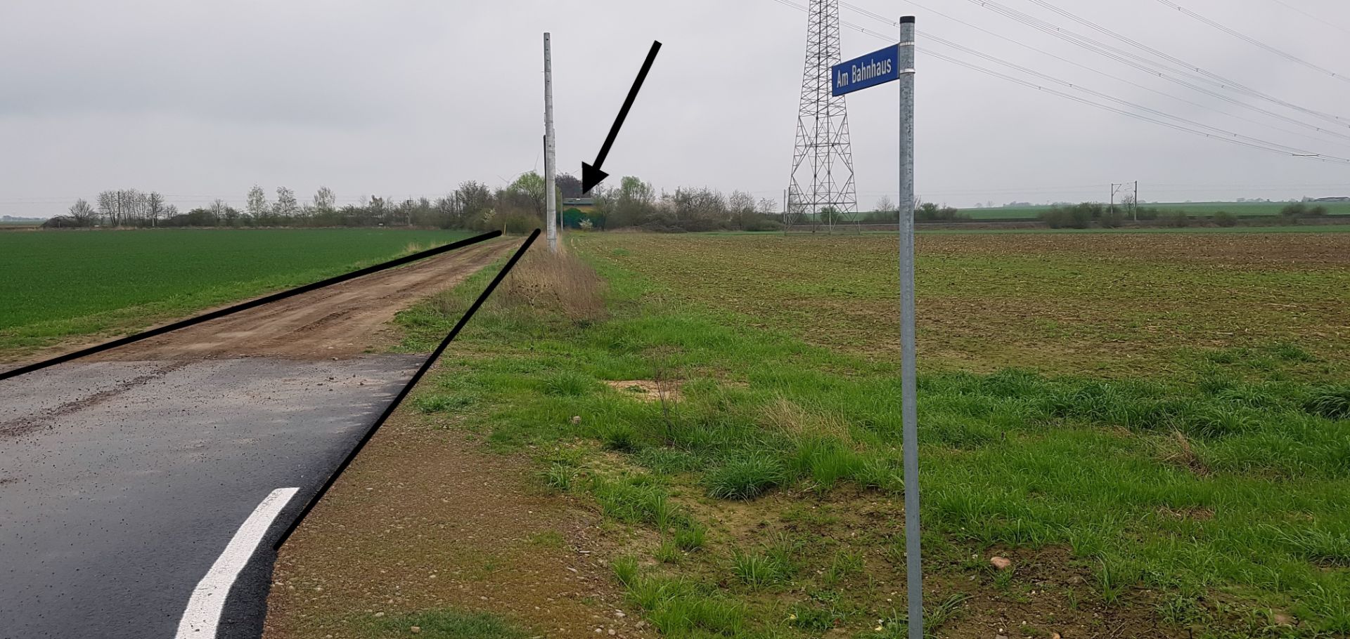
<path fill-rule="evenodd" d="M 0 639 L 259 636 L 273 543 L 424 359 L 386 322 L 513 245 L 0 382 Z"/>

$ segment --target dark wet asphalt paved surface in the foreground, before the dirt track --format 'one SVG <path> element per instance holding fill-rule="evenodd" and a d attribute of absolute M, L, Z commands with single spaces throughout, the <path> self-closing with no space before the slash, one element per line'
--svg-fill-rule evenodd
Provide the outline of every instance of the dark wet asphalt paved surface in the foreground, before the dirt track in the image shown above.
<path fill-rule="evenodd" d="M 0 382 L 0 638 L 173 638 L 275 488 L 220 638 L 262 634 L 273 543 L 423 356 L 68 363 Z"/>

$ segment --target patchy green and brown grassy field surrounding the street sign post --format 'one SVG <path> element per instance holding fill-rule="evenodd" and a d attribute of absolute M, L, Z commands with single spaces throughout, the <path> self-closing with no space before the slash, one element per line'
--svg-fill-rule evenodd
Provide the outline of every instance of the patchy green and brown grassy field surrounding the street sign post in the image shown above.
<path fill-rule="evenodd" d="M 895 237 L 571 245 L 413 406 L 593 504 L 664 636 L 903 638 Z M 1346 233 L 921 236 L 932 636 L 1350 635 L 1347 290 Z"/>

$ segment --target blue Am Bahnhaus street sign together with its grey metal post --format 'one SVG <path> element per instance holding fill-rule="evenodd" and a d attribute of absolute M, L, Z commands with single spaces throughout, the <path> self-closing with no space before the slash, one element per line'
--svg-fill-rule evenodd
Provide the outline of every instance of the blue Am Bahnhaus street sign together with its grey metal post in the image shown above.
<path fill-rule="evenodd" d="M 914 363 L 914 16 L 900 18 L 900 43 L 832 67 L 833 93 L 900 81 L 900 400 L 905 444 L 905 568 L 910 639 L 923 639 L 919 554 L 918 387 Z"/>

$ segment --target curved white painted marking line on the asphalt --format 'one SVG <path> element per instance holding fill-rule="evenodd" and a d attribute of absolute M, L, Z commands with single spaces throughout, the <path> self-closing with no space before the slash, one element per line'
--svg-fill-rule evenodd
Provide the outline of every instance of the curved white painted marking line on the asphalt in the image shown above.
<path fill-rule="evenodd" d="M 300 488 L 277 488 L 263 499 L 252 515 L 244 520 L 235 538 L 230 539 L 225 551 L 211 565 L 207 576 L 201 578 L 197 588 L 192 590 L 188 600 L 188 609 L 178 621 L 176 639 L 215 639 L 216 626 L 220 623 L 220 612 L 225 608 L 225 597 L 230 588 L 235 585 L 239 572 L 248 564 L 262 535 L 267 532 L 273 519 L 281 514 L 290 497 L 296 496 Z"/>

